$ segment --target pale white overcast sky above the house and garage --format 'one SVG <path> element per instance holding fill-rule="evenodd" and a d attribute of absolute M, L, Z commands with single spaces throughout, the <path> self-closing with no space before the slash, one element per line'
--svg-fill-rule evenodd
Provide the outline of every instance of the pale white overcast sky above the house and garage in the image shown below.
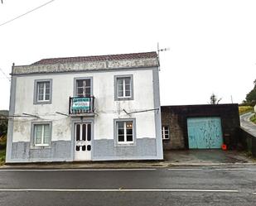
<path fill-rule="evenodd" d="M 50 0 L 2 0 L 0 25 Z M 0 69 L 43 58 L 160 54 L 162 105 L 241 103 L 256 79 L 256 1 L 55 0 L 0 26 Z M 10 83 L 0 70 L 0 109 Z"/>

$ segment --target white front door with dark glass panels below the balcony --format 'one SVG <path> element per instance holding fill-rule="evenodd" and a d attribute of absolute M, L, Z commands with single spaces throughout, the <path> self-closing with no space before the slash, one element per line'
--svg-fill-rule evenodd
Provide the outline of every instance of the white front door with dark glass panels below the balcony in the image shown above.
<path fill-rule="evenodd" d="M 92 124 L 75 123 L 75 160 L 91 160 Z"/>

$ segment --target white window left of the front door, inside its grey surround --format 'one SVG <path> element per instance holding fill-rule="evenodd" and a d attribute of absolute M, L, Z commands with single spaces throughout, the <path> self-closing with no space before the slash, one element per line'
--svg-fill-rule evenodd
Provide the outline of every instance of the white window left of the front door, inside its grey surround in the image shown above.
<path fill-rule="evenodd" d="M 35 146 L 50 146 L 51 142 L 51 125 L 34 124 L 34 145 Z"/>

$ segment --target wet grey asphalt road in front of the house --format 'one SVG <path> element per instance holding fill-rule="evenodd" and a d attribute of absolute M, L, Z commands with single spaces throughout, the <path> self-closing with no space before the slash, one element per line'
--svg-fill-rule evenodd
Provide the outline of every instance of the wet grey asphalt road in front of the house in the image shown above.
<path fill-rule="evenodd" d="M 0 170 L 0 205 L 255 205 L 256 166 Z"/>

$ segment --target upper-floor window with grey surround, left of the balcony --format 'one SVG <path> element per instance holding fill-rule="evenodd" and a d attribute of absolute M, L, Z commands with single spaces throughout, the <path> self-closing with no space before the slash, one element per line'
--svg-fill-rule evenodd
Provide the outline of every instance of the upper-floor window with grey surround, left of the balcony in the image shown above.
<path fill-rule="evenodd" d="M 51 103 L 52 79 L 35 80 L 34 103 Z"/>

